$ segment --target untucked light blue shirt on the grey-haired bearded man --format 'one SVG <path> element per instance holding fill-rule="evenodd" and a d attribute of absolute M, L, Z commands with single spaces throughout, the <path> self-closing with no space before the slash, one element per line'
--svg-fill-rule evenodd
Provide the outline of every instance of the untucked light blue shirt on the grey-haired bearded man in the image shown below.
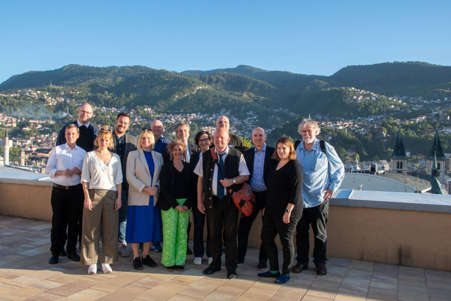
<path fill-rule="evenodd" d="M 316 207 L 323 203 L 323 191 L 337 190 L 344 179 L 344 166 L 335 148 L 327 142 L 325 144 L 327 156 L 321 150 L 318 139 L 310 150 L 304 148 L 303 141 L 296 148 L 296 159 L 302 166 L 304 176 L 302 184 L 304 208 Z"/>

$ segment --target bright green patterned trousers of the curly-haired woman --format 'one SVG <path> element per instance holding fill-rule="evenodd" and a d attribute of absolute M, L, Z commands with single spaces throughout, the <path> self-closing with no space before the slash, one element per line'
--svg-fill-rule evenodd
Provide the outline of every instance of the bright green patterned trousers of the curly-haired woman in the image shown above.
<path fill-rule="evenodd" d="M 177 199 L 178 204 L 184 204 L 186 199 Z M 163 222 L 163 254 L 161 264 L 164 266 L 183 265 L 186 259 L 186 243 L 188 221 L 191 209 L 179 212 L 177 209 L 161 210 Z"/>

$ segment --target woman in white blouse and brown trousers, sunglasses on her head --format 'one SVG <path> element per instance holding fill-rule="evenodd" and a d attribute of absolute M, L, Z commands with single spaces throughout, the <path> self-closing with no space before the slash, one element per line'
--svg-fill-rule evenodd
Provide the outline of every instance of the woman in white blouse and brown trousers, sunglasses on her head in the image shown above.
<path fill-rule="evenodd" d="M 102 229 L 100 262 L 104 273 L 111 273 L 111 263 L 117 261 L 118 210 L 121 208 L 122 170 L 112 146 L 112 129 L 100 127 L 94 145 L 97 149 L 86 154 L 81 183 L 85 194 L 81 261 L 89 265 L 88 274 L 97 273 L 99 232 Z"/>

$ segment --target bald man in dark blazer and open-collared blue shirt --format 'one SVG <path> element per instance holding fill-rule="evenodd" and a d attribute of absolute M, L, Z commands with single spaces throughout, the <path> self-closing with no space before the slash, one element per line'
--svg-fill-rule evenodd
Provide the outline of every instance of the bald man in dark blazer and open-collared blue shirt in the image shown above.
<path fill-rule="evenodd" d="M 254 211 L 250 216 L 241 215 L 240 226 L 238 228 L 238 264 L 244 264 L 246 251 L 248 250 L 248 238 L 252 223 L 256 219 L 260 210 L 265 208 L 266 187 L 268 174 L 273 170 L 276 161 L 272 159 L 274 148 L 266 145 L 266 133 L 261 127 L 252 131 L 252 142 L 254 147 L 246 150 L 244 158 L 251 174 L 248 183 L 252 187 L 256 198 Z M 260 244 L 258 268 L 264 270 L 267 268 L 268 255 L 266 254 L 263 243 Z"/>

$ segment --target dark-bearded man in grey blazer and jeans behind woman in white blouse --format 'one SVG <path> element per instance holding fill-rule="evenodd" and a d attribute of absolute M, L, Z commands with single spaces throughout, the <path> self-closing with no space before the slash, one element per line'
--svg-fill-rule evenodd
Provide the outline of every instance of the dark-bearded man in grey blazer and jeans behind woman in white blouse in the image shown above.
<path fill-rule="evenodd" d="M 116 126 L 113 132 L 113 146 L 109 149 L 119 155 L 122 166 L 122 206 L 119 209 L 119 253 L 123 257 L 130 256 L 127 250 L 127 242 L 125 241 L 125 227 L 127 225 L 127 203 L 128 203 L 128 183 L 125 176 L 125 168 L 127 166 L 128 153 L 136 150 L 137 139 L 135 136 L 126 133 L 130 126 L 130 115 L 127 113 L 119 113 L 116 117 Z"/>

